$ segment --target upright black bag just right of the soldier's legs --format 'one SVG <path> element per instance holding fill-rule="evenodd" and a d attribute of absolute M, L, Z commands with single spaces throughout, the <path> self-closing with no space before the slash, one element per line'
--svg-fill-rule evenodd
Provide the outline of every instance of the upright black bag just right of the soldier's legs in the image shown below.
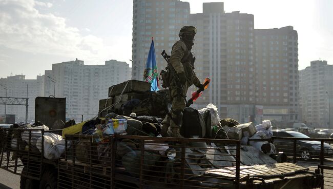
<path fill-rule="evenodd" d="M 186 107 L 183 111 L 183 124 L 180 127 L 180 135 L 186 138 L 191 136 L 204 137 L 206 134 L 206 125 L 199 111 Z"/>

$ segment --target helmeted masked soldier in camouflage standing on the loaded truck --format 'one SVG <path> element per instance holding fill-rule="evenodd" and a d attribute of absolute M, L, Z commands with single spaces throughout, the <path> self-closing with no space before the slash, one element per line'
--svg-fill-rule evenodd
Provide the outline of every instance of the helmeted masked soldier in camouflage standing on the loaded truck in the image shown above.
<path fill-rule="evenodd" d="M 194 26 L 183 26 L 179 32 L 180 40 L 172 46 L 170 63 L 174 67 L 177 75 L 172 75 L 169 86 L 172 110 L 166 115 L 162 122 L 162 136 L 167 135 L 166 131 L 169 126 L 171 126 L 172 137 L 182 137 L 180 135 L 180 126 L 182 125 L 182 112 L 185 108 L 186 93 L 192 84 L 203 89 L 203 85 L 194 72 L 195 58 L 191 52 L 196 33 L 197 29 Z M 179 81 L 176 79 L 177 76 Z M 181 90 L 179 90 L 179 88 L 181 88 Z"/>

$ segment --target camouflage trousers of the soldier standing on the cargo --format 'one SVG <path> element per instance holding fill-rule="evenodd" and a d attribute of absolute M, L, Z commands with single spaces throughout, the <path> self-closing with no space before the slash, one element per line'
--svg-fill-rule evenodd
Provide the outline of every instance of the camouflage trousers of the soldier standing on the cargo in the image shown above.
<path fill-rule="evenodd" d="M 179 95 L 178 86 L 176 85 L 175 82 L 171 83 L 171 85 L 169 86 L 170 97 L 172 100 L 172 111 L 170 113 L 171 113 L 172 118 L 174 118 L 174 119 L 182 119 L 182 118 L 179 118 L 179 115 L 176 115 L 174 112 L 177 112 L 177 111 L 182 112 L 186 105 L 184 97 L 186 96 L 186 93 L 188 92 L 188 89 L 189 89 L 188 83 L 186 82 L 185 84 L 183 84 L 182 88 L 183 88 L 183 92 L 181 95 Z M 164 120 L 162 122 L 162 124 L 169 124 L 169 126 L 171 126 L 171 128 L 180 127 L 181 123 L 176 124 L 170 118 L 169 115 L 166 115 L 166 117 L 164 118 Z"/>

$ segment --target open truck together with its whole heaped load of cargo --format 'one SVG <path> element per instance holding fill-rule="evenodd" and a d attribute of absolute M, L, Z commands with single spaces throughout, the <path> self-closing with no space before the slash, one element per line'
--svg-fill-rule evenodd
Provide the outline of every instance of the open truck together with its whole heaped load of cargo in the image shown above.
<path fill-rule="evenodd" d="M 198 110 L 203 125 L 197 133 L 191 130 L 191 137 L 161 137 L 161 121 L 168 114 L 164 106 L 170 101 L 165 96 L 169 92 L 149 91 L 142 87 L 146 85 L 143 83 L 131 80 L 111 86 L 109 97 L 100 101 L 97 118 L 67 126 L 61 134 L 41 123 L 4 129 L 1 168 L 20 175 L 21 188 L 322 185 L 323 175 L 318 170 L 312 172 L 284 162 L 283 153 L 273 152 L 269 142 L 246 140 L 244 144 L 245 139 L 262 140 L 263 125 L 220 120 L 212 104 Z M 154 107 L 152 99 L 160 102 L 159 106 Z M 154 108 L 158 111 L 154 112 Z"/>

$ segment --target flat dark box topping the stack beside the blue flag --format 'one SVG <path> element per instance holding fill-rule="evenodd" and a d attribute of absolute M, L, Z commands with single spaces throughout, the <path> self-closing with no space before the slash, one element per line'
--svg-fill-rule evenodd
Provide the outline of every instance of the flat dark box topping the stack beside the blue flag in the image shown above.
<path fill-rule="evenodd" d="M 116 95 L 121 94 L 122 91 L 123 93 L 144 92 L 150 91 L 150 88 L 151 83 L 138 80 L 129 80 L 109 87 L 109 97 L 115 97 Z"/>

